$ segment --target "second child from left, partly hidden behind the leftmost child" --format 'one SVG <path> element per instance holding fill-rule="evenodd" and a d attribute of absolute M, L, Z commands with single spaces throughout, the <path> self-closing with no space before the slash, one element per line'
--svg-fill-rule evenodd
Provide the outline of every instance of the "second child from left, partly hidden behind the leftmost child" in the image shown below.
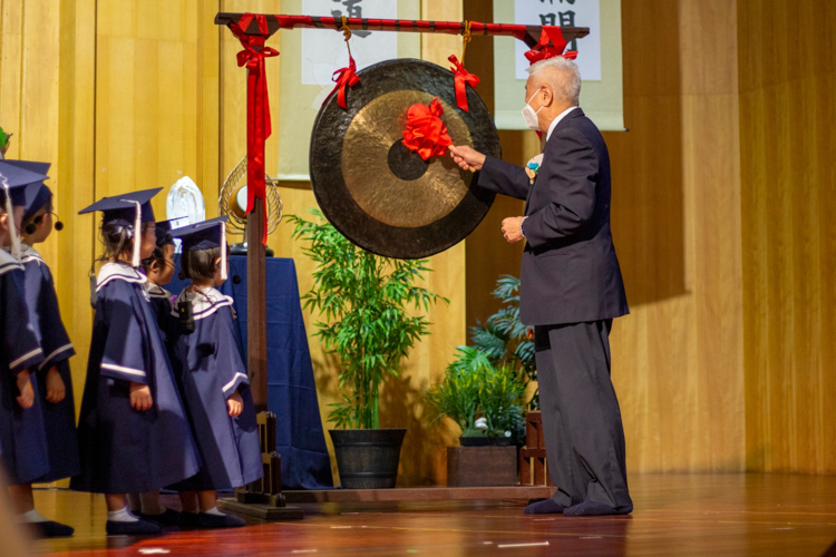
<path fill-rule="evenodd" d="M 69 368 L 69 359 L 76 351 L 61 321 L 52 273 L 33 247 L 35 244 L 46 242 L 52 226 L 52 192 L 46 184 L 41 184 L 23 213 L 20 257 L 26 272 L 29 321 L 45 354 L 37 375 L 47 433 L 49 472 L 37 480 L 39 483 L 76 476 L 81 466 L 78 459 L 76 403 Z"/>

